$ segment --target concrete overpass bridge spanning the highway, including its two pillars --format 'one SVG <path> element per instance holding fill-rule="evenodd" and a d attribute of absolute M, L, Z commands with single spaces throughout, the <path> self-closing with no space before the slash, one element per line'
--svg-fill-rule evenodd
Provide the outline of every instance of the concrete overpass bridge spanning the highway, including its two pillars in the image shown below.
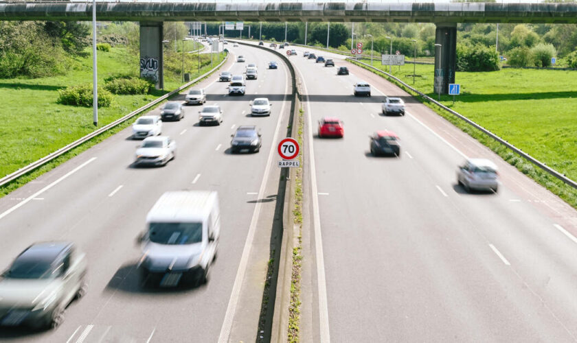
<path fill-rule="evenodd" d="M 202 3 L 98 1 L 99 21 L 139 21 L 141 75 L 163 84 L 164 21 L 434 23 L 435 92 L 455 82 L 457 23 L 577 23 L 577 3 Z M 0 1 L 1 21 L 91 21 L 91 2 Z M 442 57 L 442 60 L 439 58 Z M 150 70 L 150 69 L 154 70 Z"/>

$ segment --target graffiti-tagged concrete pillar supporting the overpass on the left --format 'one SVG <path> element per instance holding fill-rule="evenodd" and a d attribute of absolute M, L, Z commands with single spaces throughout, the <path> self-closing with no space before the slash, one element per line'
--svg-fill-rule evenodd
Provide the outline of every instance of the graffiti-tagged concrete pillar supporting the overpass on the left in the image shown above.
<path fill-rule="evenodd" d="M 157 89 L 164 89 L 162 22 L 140 22 L 140 77 L 150 78 Z"/>

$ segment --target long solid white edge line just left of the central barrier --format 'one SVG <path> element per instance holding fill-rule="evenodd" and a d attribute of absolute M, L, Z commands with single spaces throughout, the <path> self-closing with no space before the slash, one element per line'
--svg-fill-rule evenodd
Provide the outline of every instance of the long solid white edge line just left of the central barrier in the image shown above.
<path fill-rule="evenodd" d="M 282 118 L 282 113 L 286 106 L 287 93 L 288 93 L 288 69 L 283 63 L 285 84 L 284 84 L 284 99 L 282 101 L 282 106 L 280 108 L 280 113 L 277 121 L 277 126 L 275 128 L 275 134 L 273 136 L 273 142 L 278 141 L 278 134 L 280 131 L 280 123 Z M 310 139 L 313 140 L 312 137 Z M 271 170 L 271 164 L 273 161 L 273 156 L 275 156 L 275 146 L 271 145 L 271 150 L 269 151 L 269 157 L 267 159 L 267 166 L 264 168 L 264 176 L 262 178 L 262 183 L 260 184 L 260 189 L 258 191 L 258 198 L 262 199 L 264 196 L 264 190 L 267 187 L 267 182 L 269 181 L 269 172 Z M 247 240 L 245 241 L 245 247 L 242 248 L 242 256 L 240 257 L 240 263 L 238 264 L 238 270 L 236 270 L 236 276 L 234 278 L 234 285 L 232 286 L 232 292 L 230 294 L 229 303 L 227 305 L 227 312 L 225 314 L 225 319 L 223 320 L 223 327 L 220 328 L 220 335 L 218 336 L 218 343 L 226 343 L 230 337 L 230 331 L 232 329 L 232 320 L 234 319 L 234 314 L 236 313 L 236 306 L 238 305 L 238 298 L 240 296 L 240 288 L 242 287 L 242 282 L 245 279 L 245 272 L 247 271 L 247 265 L 249 262 L 249 255 L 251 253 L 251 248 L 253 246 L 254 235 L 256 231 L 256 223 L 258 221 L 258 216 L 260 215 L 260 207 L 262 202 L 257 202 L 254 207 L 253 217 L 251 219 L 251 224 L 249 226 L 249 232 L 247 233 Z"/>

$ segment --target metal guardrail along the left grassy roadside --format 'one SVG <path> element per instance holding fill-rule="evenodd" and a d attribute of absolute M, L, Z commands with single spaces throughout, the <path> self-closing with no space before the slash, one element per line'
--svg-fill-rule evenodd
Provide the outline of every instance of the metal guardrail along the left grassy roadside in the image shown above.
<path fill-rule="evenodd" d="M 214 73 L 214 71 L 216 71 L 218 68 L 220 68 L 220 66 L 223 65 L 227 61 L 227 59 L 228 59 L 228 54 L 225 56 L 225 59 L 223 60 L 223 62 L 220 62 L 216 67 L 214 67 L 210 71 L 207 71 L 206 73 L 199 76 L 198 78 L 196 78 L 196 79 L 194 79 L 194 80 L 192 80 L 186 84 L 183 84 L 182 86 L 175 89 L 174 91 L 172 91 L 166 95 L 163 95 L 163 96 L 159 97 L 158 99 L 155 99 L 152 102 L 149 102 L 148 104 L 142 106 L 141 108 L 138 108 L 137 110 L 134 110 L 131 113 L 128 113 L 128 115 L 125 115 L 124 117 L 117 119 L 117 120 L 113 121 L 112 123 L 109 123 L 106 126 L 102 126 L 102 128 L 99 128 L 98 130 L 95 130 L 95 131 L 87 134 L 86 136 L 84 136 L 80 139 L 77 139 L 76 141 L 73 141 L 72 143 L 69 143 L 65 147 L 61 147 L 60 149 L 56 150 L 55 152 L 52 152 L 51 154 L 48 154 L 47 156 L 40 158 L 38 161 L 32 162 L 32 163 L 30 163 L 30 165 L 22 167 L 21 169 L 14 171 L 14 173 L 8 174 L 7 176 L 0 178 L 0 187 L 8 184 L 9 182 L 16 180 L 17 178 L 19 178 L 25 174 L 30 173 L 30 171 L 33 171 L 34 169 L 41 167 L 42 165 L 45 165 L 46 163 L 49 163 L 50 161 L 54 160 L 54 158 L 57 158 L 58 156 L 63 155 L 66 152 L 69 152 L 70 150 L 72 150 L 75 147 L 78 147 L 78 145 L 80 145 L 84 142 L 87 142 L 90 139 L 93 139 L 94 137 L 98 136 L 99 134 L 101 134 L 103 132 L 106 132 L 107 130 L 110 130 L 111 128 L 114 128 L 118 124 L 120 124 L 123 121 L 126 121 L 128 119 L 131 119 L 135 115 L 139 115 L 140 113 L 144 112 L 144 110 L 148 110 L 148 108 L 155 106 L 159 102 L 163 102 L 163 100 L 168 99 L 168 97 L 171 97 L 172 95 L 178 93 L 179 91 L 182 91 L 185 88 L 188 88 L 189 86 L 191 86 L 195 82 L 198 82 L 198 81 L 202 80 L 203 78 L 206 78 L 208 75 Z"/>

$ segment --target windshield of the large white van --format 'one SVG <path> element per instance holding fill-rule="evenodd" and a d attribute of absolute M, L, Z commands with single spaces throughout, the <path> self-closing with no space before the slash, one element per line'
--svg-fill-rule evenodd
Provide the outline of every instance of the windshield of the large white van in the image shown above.
<path fill-rule="evenodd" d="M 150 223 L 150 241 L 158 244 L 182 245 L 203 240 L 202 223 Z"/>

